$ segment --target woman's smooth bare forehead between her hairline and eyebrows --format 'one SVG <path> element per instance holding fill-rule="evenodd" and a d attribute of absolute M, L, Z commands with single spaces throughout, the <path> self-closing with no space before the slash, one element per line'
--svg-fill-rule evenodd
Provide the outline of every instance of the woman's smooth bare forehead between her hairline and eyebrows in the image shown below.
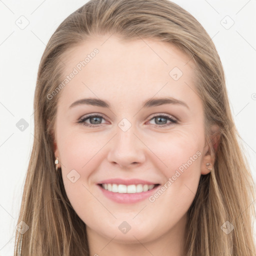
<path fill-rule="evenodd" d="M 196 97 L 192 95 L 195 89 L 191 90 L 195 80 L 194 62 L 168 42 L 94 36 L 70 48 L 63 61 L 62 80 L 75 73 L 62 89 L 65 99 L 75 100 L 82 95 L 99 98 L 111 95 L 111 99 L 129 97 L 142 101 L 154 94 L 184 100 Z"/>

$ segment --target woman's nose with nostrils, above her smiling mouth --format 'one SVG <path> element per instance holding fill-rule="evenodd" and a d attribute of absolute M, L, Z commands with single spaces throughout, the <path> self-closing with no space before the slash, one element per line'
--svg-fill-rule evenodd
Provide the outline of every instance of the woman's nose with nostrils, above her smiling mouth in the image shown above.
<path fill-rule="evenodd" d="M 133 167 L 145 160 L 144 143 L 139 139 L 133 125 L 126 131 L 119 127 L 116 135 L 109 144 L 110 150 L 107 155 L 109 162 L 118 164 L 122 168 Z"/>

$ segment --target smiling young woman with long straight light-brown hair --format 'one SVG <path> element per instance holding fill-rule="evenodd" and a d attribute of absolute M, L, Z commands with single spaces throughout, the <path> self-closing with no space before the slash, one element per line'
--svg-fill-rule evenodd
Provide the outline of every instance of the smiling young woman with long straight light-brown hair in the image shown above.
<path fill-rule="evenodd" d="M 178 5 L 91 0 L 70 14 L 34 109 L 14 255 L 255 255 L 222 64 Z"/>

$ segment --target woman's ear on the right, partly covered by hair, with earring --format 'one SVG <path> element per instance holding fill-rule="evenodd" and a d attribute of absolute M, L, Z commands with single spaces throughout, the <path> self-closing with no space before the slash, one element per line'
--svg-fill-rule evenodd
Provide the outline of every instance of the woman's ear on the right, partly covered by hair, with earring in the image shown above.
<path fill-rule="evenodd" d="M 210 136 L 209 139 L 206 141 L 205 146 L 203 147 L 203 155 L 202 155 L 202 162 L 201 162 L 201 174 L 205 175 L 208 174 L 213 168 L 214 161 L 215 161 L 215 153 L 218 148 L 220 139 L 220 132 L 219 126 L 216 124 L 212 125 L 210 128 Z M 213 152 L 211 153 L 211 146 L 213 147 Z M 206 165 L 206 163 L 209 163 Z"/>

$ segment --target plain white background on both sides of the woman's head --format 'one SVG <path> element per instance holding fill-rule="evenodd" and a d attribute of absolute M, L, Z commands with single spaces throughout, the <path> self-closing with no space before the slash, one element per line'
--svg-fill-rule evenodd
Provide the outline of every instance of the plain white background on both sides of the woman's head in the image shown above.
<path fill-rule="evenodd" d="M 32 107 L 41 55 L 60 22 L 85 2 L 0 0 L 0 256 L 13 255 L 14 229 L 34 139 Z M 174 2 L 212 37 L 224 67 L 231 111 L 256 180 L 256 0 Z M 220 23 L 225 17 L 222 22 L 231 24 L 226 15 L 234 21 L 229 29 Z M 22 24 L 29 22 L 24 29 L 16 25 L 21 18 Z M 21 118 L 29 124 L 24 131 L 16 127 Z"/>

